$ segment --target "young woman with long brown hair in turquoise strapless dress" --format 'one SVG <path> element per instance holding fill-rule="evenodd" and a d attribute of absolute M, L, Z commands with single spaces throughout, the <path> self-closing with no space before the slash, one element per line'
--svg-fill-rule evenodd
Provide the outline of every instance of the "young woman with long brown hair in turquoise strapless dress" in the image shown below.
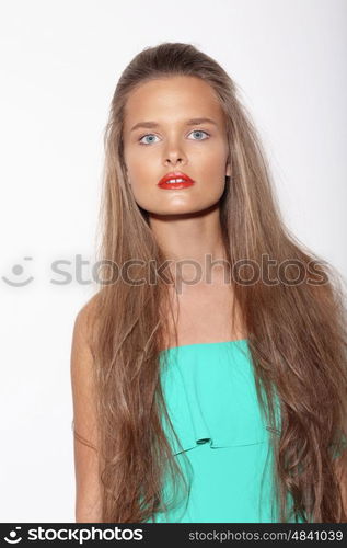
<path fill-rule="evenodd" d="M 285 227 L 234 82 L 146 48 L 105 132 L 71 351 L 78 522 L 346 521 L 339 275 Z"/>

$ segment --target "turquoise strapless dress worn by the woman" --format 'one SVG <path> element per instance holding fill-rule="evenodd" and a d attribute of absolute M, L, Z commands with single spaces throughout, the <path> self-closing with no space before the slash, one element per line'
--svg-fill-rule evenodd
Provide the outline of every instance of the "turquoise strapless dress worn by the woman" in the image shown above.
<path fill-rule="evenodd" d="M 165 422 L 163 427 L 189 492 L 178 493 L 175 507 L 150 522 L 278 522 L 271 434 L 257 401 L 247 339 L 176 346 L 162 351 L 160 361 L 183 450 Z M 173 494 L 167 481 L 165 500 Z"/>

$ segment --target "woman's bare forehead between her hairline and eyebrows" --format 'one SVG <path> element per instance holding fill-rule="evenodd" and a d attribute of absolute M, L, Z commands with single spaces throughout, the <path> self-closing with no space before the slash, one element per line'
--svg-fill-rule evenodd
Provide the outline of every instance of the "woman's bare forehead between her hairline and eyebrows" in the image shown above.
<path fill-rule="evenodd" d="M 125 128 L 140 121 L 158 123 L 208 116 L 222 124 L 223 112 L 215 90 L 200 78 L 175 76 L 141 83 L 125 106 Z"/>

